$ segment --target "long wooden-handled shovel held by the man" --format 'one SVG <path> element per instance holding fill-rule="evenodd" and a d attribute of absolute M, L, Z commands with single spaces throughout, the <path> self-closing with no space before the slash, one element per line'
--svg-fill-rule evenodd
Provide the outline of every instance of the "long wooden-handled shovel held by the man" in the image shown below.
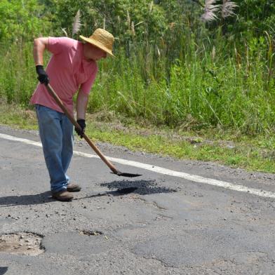
<path fill-rule="evenodd" d="M 63 104 L 63 102 L 60 100 L 60 98 L 58 97 L 58 95 L 55 93 L 55 91 L 53 90 L 53 88 L 51 87 L 50 84 L 46 85 L 46 88 L 48 90 L 48 93 L 51 94 L 51 96 L 55 99 L 56 103 L 58 103 L 58 106 L 62 109 L 62 111 L 66 114 L 66 116 L 68 117 L 68 119 L 74 124 L 74 126 L 76 128 L 79 128 L 79 130 L 82 130 L 81 127 L 79 126 L 79 123 L 76 122 L 76 120 L 74 119 L 74 116 L 72 116 L 72 114 L 70 114 L 67 110 L 67 108 L 65 107 L 65 105 Z M 98 149 L 98 147 L 95 146 L 95 144 L 89 139 L 89 137 L 83 133 L 83 137 L 86 140 L 86 142 L 88 142 L 88 145 L 90 145 L 90 147 L 93 148 L 93 150 L 95 151 L 96 154 L 98 154 L 98 156 L 100 156 L 100 159 L 102 159 L 102 161 L 104 161 L 107 166 L 112 170 L 112 172 L 116 175 L 119 175 L 121 177 L 139 177 L 140 174 L 130 174 L 130 173 L 122 173 L 121 171 L 117 170 L 114 165 L 108 161 L 105 156 L 102 154 L 102 152 L 100 152 L 100 149 Z"/>

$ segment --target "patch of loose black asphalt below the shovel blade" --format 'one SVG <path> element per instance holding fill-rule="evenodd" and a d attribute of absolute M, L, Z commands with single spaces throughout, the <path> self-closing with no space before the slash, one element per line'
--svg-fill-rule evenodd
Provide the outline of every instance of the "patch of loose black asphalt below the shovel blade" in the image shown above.
<path fill-rule="evenodd" d="M 158 193 L 173 193 L 177 192 L 176 189 L 158 186 L 156 180 L 115 180 L 114 182 L 105 182 L 100 186 L 108 187 L 109 189 L 117 189 L 116 193 L 121 194 L 158 194 Z"/>

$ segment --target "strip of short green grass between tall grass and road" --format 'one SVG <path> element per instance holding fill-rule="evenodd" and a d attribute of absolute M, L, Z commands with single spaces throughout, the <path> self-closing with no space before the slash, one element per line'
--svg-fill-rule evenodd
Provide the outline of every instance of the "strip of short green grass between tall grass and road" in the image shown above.
<path fill-rule="evenodd" d="M 0 105 L 0 124 L 37 129 L 35 113 L 16 105 Z M 275 136 L 248 137 L 217 129 L 180 131 L 169 128 L 122 125 L 87 118 L 86 133 L 94 141 L 110 142 L 133 151 L 150 152 L 176 159 L 214 161 L 230 167 L 275 173 Z"/>

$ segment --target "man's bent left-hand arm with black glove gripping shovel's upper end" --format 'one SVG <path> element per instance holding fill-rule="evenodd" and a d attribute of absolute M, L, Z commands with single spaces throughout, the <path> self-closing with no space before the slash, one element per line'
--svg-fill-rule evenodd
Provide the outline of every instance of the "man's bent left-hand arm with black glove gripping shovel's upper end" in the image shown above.
<path fill-rule="evenodd" d="M 40 37 L 34 39 L 34 63 L 38 79 L 41 83 L 48 85 L 48 74 L 43 68 L 43 53 L 45 48 L 48 48 L 48 37 Z"/>

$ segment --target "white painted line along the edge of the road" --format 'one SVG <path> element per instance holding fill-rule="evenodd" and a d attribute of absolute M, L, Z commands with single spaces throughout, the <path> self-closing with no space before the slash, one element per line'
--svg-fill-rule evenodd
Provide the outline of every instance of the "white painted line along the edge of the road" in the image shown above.
<path fill-rule="evenodd" d="M 0 133 L 0 137 L 4 138 L 6 140 L 12 140 L 12 141 L 16 141 L 16 142 L 23 142 L 23 143 L 28 144 L 28 145 L 34 145 L 34 146 L 42 147 L 41 142 L 35 142 L 35 141 L 32 141 L 32 140 L 27 140 L 25 138 L 13 137 L 11 135 L 5 135 L 5 134 L 1 134 L 1 133 Z M 99 156 L 96 156 L 94 154 L 86 154 L 86 153 L 77 152 L 77 151 L 74 151 L 74 154 L 79 155 L 79 156 L 85 156 L 87 158 L 98 158 L 99 159 Z M 140 163 L 140 162 L 137 162 L 137 161 L 128 161 L 126 159 L 117 159 L 117 158 L 113 158 L 113 157 L 109 157 L 109 156 L 107 156 L 107 158 L 110 161 L 113 161 L 113 162 L 116 162 L 116 163 L 121 163 L 121 164 L 128 165 L 128 166 L 134 166 L 134 167 L 137 167 L 137 168 L 150 170 L 154 173 L 159 173 L 159 174 L 163 174 L 163 175 L 171 175 L 173 177 L 182 177 L 185 180 L 190 180 L 192 182 L 199 182 L 199 183 L 204 183 L 204 184 L 207 184 L 207 185 L 214 185 L 214 186 L 217 186 L 217 187 L 223 187 L 225 189 L 230 189 L 230 190 L 239 191 L 239 192 L 246 192 L 248 194 L 253 194 L 253 195 L 256 195 L 256 196 L 263 196 L 263 197 L 275 199 L 275 193 L 274 192 L 264 191 L 264 190 L 255 189 L 255 188 L 249 188 L 249 187 L 243 186 L 241 184 L 234 184 L 234 183 L 230 183 L 230 182 L 224 182 L 222 180 L 214 180 L 214 179 L 211 179 L 211 178 L 208 178 L 208 177 L 201 177 L 199 175 L 192 175 L 192 174 L 188 174 L 188 173 L 182 173 L 182 172 L 162 168 L 162 167 L 159 167 L 159 166 L 152 166 L 151 164 Z"/>

